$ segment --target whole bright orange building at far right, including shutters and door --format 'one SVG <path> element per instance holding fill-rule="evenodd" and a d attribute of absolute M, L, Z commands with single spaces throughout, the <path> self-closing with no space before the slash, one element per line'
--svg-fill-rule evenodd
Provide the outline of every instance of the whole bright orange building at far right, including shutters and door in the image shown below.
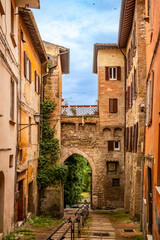
<path fill-rule="evenodd" d="M 160 239 L 160 1 L 145 1 L 146 121 L 143 232 Z"/>

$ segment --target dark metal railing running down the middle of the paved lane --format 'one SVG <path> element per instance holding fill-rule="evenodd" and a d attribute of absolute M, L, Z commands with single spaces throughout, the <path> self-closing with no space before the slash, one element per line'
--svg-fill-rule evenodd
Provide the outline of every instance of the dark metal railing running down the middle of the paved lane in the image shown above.
<path fill-rule="evenodd" d="M 70 239 L 75 239 L 76 227 L 77 224 L 77 235 L 81 236 L 81 228 L 84 227 L 84 223 L 89 215 L 89 203 L 85 202 L 76 212 L 75 218 L 67 218 L 63 223 L 61 223 L 45 240 L 62 240 L 65 239 L 66 234 L 70 231 Z M 54 235 L 58 233 L 58 231 L 62 231 L 62 227 L 65 227 L 63 232 L 60 232 L 60 236 L 54 238 Z M 68 238 L 68 236 L 67 236 Z"/>

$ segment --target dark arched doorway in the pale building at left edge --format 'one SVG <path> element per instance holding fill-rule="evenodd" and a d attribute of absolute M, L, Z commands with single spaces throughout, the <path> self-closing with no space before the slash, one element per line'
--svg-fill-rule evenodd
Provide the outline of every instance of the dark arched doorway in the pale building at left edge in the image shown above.
<path fill-rule="evenodd" d="M 0 233 L 3 233 L 4 215 L 4 174 L 0 172 Z"/>

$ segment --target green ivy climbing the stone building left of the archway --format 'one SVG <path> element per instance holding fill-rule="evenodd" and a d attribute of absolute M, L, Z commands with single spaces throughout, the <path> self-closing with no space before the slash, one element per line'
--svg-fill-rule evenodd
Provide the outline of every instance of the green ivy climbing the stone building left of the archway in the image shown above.
<path fill-rule="evenodd" d="M 64 164 L 57 164 L 59 141 L 54 137 L 55 126 L 51 127 L 50 117 L 56 104 L 51 100 L 41 103 L 42 136 L 40 140 L 40 154 L 38 162 L 37 184 L 39 189 L 44 189 L 55 181 L 65 182 L 68 168 Z"/>

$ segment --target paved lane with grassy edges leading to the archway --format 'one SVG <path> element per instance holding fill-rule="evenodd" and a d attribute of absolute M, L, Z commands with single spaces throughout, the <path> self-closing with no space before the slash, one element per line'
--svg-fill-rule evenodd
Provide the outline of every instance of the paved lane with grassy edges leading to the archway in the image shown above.
<path fill-rule="evenodd" d="M 65 209 L 65 215 L 62 220 L 33 217 L 29 219 L 25 225 L 22 225 L 17 231 L 15 239 L 25 240 L 42 240 L 46 239 L 53 230 L 68 217 L 75 218 L 77 209 Z M 69 225 L 68 225 L 69 226 Z M 64 233 L 67 225 L 62 227 L 52 239 L 59 239 Z M 124 211 L 106 211 L 106 210 L 90 210 L 89 217 L 84 227 L 81 229 L 81 236 L 78 238 L 77 224 L 75 224 L 75 239 L 82 240 L 144 240 L 142 232 L 139 231 L 139 225 L 134 224 L 128 214 Z M 71 239 L 71 231 L 65 235 L 65 239 Z"/>

